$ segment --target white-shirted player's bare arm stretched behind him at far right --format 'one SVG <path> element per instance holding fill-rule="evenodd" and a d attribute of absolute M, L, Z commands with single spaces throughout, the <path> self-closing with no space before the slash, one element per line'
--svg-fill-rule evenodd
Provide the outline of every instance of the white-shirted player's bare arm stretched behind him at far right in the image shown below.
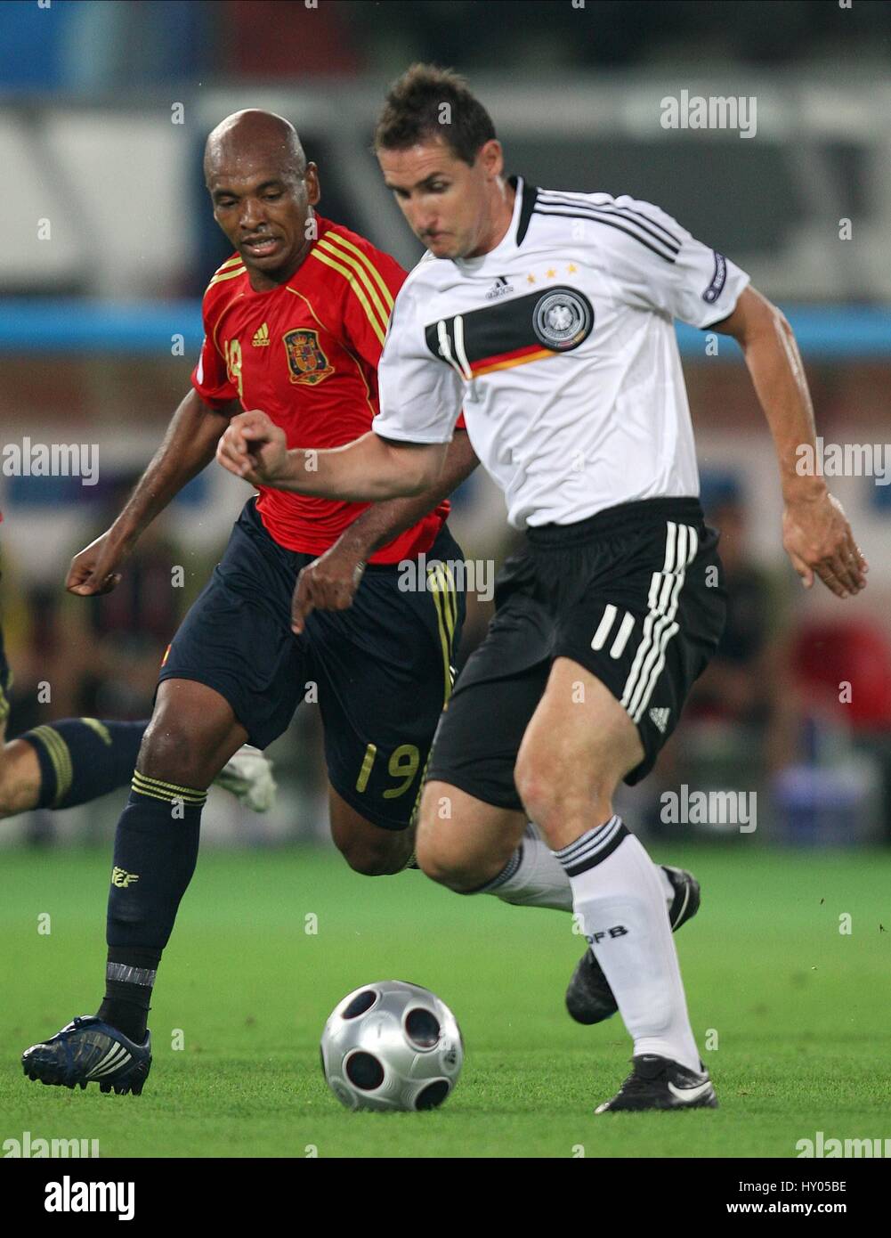
<path fill-rule="evenodd" d="M 811 394 L 798 345 L 775 305 L 745 288 L 736 308 L 714 329 L 733 335 L 742 349 L 759 401 L 773 435 L 783 495 L 783 547 L 806 588 L 814 573 L 828 589 L 846 598 L 866 586 L 869 566 L 854 541 L 842 504 L 819 475 L 799 472 L 811 448 L 817 459 Z"/>

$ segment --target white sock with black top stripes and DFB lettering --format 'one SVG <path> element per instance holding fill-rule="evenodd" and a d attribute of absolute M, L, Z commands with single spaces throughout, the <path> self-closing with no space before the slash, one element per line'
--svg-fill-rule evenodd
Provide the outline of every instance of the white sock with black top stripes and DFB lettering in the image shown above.
<path fill-rule="evenodd" d="M 635 1055 L 658 1054 L 699 1071 L 665 891 L 620 817 L 554 852 L 588 942 L 619 1004 Z"/>

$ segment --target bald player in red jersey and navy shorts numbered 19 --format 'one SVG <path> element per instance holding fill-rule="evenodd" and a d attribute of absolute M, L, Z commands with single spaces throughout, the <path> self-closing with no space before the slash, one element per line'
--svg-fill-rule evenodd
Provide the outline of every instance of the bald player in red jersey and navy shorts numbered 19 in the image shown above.
<path fill-rule="evenodd" d="M 402 269 L 316 214 L 318 170 L 280 116 L 229 116 L 208 139 L 204 172 L 236 253 L 204 296 L 193 390 L 120 516 L 73 560 L 72 593 L 115 587 L 142 530 L 210 463 L 243 409 L 266 410 L 290 444 L 322 449 L 369 433 L 379 411 L 376 365 Z M 165 656 L 115 837 L 105 999 L 25 1054 L 32 1078 L 141 1092 L 148 1002 L 207 789 L 241 744 L 280 735 L 301 701 L 322 711 L 332 833 L 348 863 L 382 874 L 411 862 L 464 613 L 443 500 L 475 464 L 459 432 L 438 480 L 407 498 L 340 503 L 261 487 L 248 501 Z M 426 588 L 406 589 L 398 565 L 422 553 Z"/>

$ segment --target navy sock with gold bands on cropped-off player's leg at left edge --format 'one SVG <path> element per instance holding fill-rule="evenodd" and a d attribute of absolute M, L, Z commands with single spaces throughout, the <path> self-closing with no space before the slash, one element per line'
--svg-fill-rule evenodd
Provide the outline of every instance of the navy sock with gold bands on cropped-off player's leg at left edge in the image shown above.
<path fill-rule="evenodd" d="M 38 808 L 71 808 L 126 786 L 147 722 L 63 718 L 26 730 L 41 769 Z"/>

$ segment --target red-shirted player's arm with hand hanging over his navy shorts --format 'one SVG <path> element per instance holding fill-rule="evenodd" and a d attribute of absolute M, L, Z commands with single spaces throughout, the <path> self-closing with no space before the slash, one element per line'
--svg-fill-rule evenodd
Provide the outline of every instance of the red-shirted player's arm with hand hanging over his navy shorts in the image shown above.
<path fill-rule="evenodd" d="M 299 635 L 311 610 L 345 610 L 353 603 L 365 563 L 447 498 L 479 464 L 465 430 L 455 430 L 439 479 L 411 499 L 374 503 L 340 534 L 324 555 L 297 577 L 291 625 Z"/>

